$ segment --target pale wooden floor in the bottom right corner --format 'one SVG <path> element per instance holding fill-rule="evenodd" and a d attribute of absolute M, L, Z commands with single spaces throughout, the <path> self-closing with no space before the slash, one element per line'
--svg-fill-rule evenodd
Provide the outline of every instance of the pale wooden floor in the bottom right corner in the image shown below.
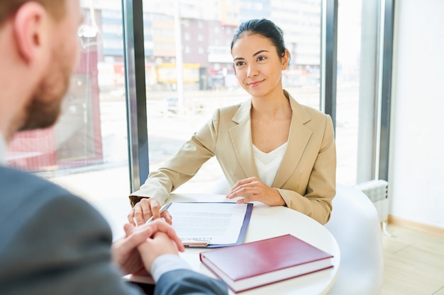
<path fill-rule="evenodd" d="M 444 295 L 444 236 L 389 224 L 380 295 Z"/>

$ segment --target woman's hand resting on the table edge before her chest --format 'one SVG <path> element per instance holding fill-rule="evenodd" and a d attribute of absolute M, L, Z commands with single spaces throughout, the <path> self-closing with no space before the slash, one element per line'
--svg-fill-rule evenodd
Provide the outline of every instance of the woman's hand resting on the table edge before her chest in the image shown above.
<path fill-rule="evenodd" d="M 239 180 L 231 189 L 231 192 L 227 195 L 228 199 L 234 199 L 235 197 L 245 196 L 242 199 L 238 199 L 238 204 L 258 201 L 268 206 L 284 206 L 285 201 L 282 199 L 279 192 L 273 187 L 269 187 L 262 183 L 259 178 L 245 178 Z"/>

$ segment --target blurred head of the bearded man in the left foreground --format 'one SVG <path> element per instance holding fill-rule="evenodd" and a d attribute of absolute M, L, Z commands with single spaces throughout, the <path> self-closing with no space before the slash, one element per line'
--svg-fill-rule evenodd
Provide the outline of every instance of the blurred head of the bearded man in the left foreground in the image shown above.
<path fill-rule="evenodd" d="M 79 0 L 0 0 L 0 64 L 8 60 L 11 66 L 0 69 L 0 77 L 13 88 L 9 97 L 0 94 L 0 108 L 7 102 L 12 112 L 0 122 L 6 139 L 56 122 L 77 59 L 81 20 Z"/>

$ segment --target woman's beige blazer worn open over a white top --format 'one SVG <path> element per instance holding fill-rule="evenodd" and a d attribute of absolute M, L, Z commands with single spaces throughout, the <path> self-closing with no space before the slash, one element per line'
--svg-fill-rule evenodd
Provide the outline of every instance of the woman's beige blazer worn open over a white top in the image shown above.
<path fill-rule="evenodd" d="M 287 151 L 272 187 L 279 191 L 287 207 L 325 224 L 335 196 L 333 122 L 329 115 L 300 105 L 287 91 L 284 94 L 292 107 L 292 123 Z M 250 109 L 248 99 L 216 110 L 165 166 L 148 175 L 140 190 L 131 194 L 131 203 L 140 197 L 156 197 L 165 203 L 170 192 L 196 175 L 213 156 L 230 185 L 252 176 L 259 178 L 252 151 Z"/>

